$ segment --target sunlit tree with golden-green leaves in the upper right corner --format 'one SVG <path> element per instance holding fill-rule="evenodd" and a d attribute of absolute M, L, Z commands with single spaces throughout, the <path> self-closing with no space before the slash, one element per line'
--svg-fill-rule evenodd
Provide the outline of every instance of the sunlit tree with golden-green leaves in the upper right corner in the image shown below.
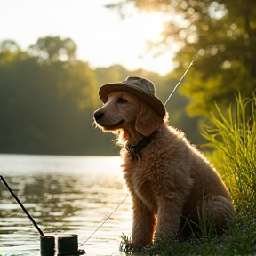
<path fill-rule="evenodd" d="M 169 17 L 157 44 L 176 52 L 177 76 L 189 71 L 181 92 L 192 100 L 190 114 L 209 116 L 214 101 L 230 104 L 240 91 L 252 97 L 256 88 L 255 0 L 128 0 L 140 10 Z M 124 6 L 124 3 L 123 3 Z"/>

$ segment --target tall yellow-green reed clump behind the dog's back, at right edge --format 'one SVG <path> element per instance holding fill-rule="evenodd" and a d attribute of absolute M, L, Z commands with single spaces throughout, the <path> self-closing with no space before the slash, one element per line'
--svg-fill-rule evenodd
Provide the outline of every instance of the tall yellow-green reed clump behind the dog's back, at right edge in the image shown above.
<path fill-rule="evenodd" d="M 236 106 L 223 114 L 216 104 L 212 124 L 204 125 L 206 146 L 220 150 L 217 161 L 221 163 L 224 180 L 236 212 L 256 210 L 256 96 L 242 99 L 236 96 Z M 250 113 L 248 115 L 248 113 Z"/>

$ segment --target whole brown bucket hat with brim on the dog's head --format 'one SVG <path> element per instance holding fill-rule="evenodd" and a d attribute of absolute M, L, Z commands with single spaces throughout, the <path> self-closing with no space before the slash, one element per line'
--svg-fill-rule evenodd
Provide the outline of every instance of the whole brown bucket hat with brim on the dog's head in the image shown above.
<path fill-rule="evenodd" d="M 128 76 L 124 82 L 104 84 L 100 87 L 99 95 L 103 103 L 108 101 L 108 94 L 115 91 L 131 92 L 156 110 L 158 116 L 165 116 L 165 108 L 161 100 L 156 97 L 155 85 L 140 76 Z"/>

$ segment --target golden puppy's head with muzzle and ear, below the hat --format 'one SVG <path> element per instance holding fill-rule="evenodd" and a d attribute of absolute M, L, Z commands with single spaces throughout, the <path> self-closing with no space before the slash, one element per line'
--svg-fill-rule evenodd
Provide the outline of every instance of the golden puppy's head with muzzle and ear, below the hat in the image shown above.
<path fill-rule="evenodd" d="M 164 122 L 148 103 L 125 91 L 110 92 L 108 101 L 93 116 L 103 131 L 135 129 L 146 137 Z"/>

